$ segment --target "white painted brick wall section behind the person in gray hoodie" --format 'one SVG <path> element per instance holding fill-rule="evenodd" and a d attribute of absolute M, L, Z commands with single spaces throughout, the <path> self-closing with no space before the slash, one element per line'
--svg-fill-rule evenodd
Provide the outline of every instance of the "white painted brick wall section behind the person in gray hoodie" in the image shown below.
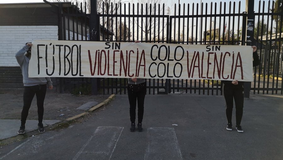
<path fill-rule="evenodd" d="M 58 26 L 0 26 L 0 66 L 19 66 L 16 52 L 34 40 L 58 40 Z"/>

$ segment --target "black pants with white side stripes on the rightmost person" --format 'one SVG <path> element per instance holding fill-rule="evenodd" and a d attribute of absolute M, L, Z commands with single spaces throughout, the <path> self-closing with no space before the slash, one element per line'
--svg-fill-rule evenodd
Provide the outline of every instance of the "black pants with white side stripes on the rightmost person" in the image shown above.
<path fill-rule="evenodd" d="M 244 88 L 243 86 L 230 86 L 223 84 L 223 94 L 226 101 L 227 122 L 232 123 L 233 98 L 236 108 L 236 125 L 241 125 L 244 107 Z"/>

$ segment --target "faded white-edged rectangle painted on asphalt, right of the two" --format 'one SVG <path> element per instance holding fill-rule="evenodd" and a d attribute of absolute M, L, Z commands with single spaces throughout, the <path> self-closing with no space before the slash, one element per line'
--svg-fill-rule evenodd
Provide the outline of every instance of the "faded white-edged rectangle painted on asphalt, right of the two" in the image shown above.
<path fill-rule="evenodd" d="M 148 128 L 145 160 L 181 160 L 182 155 L 174 128 Z"/>

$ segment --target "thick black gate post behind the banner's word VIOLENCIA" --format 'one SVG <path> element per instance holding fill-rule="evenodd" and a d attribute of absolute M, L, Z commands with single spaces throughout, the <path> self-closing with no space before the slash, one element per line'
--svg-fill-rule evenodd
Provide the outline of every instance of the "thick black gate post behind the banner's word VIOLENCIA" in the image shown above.
<path fill-rule="evenodd" d="M 99 41 L 100 23 L 97 14 L 97 0 L 90 1 L 90 8 L 91 8 L 91 13 L 89 19 L 89 38 L 91 41 Z M 91 78 L 91 82 L 92 82 L 92 94 L 97 95 L 98 94 L 97 78 Z"/>

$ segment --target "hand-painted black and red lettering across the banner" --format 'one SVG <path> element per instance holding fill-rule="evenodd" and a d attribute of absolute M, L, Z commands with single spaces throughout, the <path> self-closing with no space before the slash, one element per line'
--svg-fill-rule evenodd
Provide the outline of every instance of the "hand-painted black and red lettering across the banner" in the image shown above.
<path fill-rule="evenodd" d="M 49 46 L 52 46 L 52 55 L 47 54 L 50 52 L 47 51 L 51 48 L 48 48 Z M 64 74 L 84 77 L 82 65 L 87 65 L 88 73 L 83 73 L 89 74 L 90 77 L 183 78 L 186 75 L 188 79 L 234 79 L 238 72 L 243 79 L 240 52 L 221 51 L 220 46 L 216 46 L 215 50 L 210 49 L 208 45 L 206 51 L 186 51 L 178 45 L 171 51 L 170 45 L 167 44 L 152 45 L 150 51 L 145 51 L 139 48 L 123 50 L 119 43 L 111 45 L 106 42 L 101 50 L 83 49 L 83 52 L 81 45 L 50 43 L 49 46 L 37 45 L 38 75 L 42 71 L 40 68 L 45 68 L 48 76 L 58 71 L 58 76 Z M 45 64 L 40 61 L 44 54 Z M 229 63 L 225 62 L 227 59 Z M 64 73 L 61 73 L 63 71 Z"/>

